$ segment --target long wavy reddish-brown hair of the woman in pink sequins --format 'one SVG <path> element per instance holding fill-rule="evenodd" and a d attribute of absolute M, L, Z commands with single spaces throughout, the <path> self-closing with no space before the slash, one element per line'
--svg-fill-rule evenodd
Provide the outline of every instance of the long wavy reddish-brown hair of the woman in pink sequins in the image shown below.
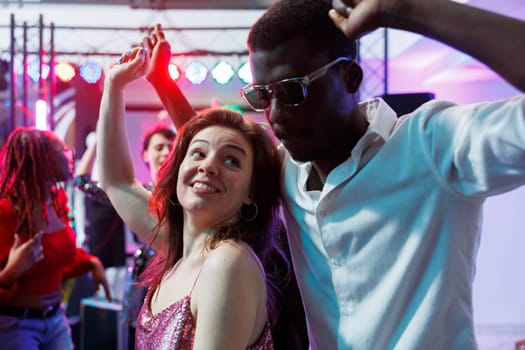
<path fill-rule="evenodd" d="M 277 262 L 285 259 L 279 245 L 281 221 L 279 209 L 279 172 L 280 159 L 277 149 L 266 131 L 257 123 L 245 120 L 241 114 L 226 108 L 209 108 L 200 112 L 188 121 L 177 133 L 175 147 L 159 172 L 157 186 L 150 201 L 150 207 L 158 218 L 157 232 L 162 227 L 169 233 L 167 256 L 156 254 L 147 267 L 145 284 L 158 284 L 162 275 L 172 268 L 182 257 L 183 210 L 178 204 L 177 180 L 179 168 L 195 135 L 211 126 L 222 126 L 239 131 L 253 149 L 253 172 L 251 196 L 257 204 L 258 214 L 246 221 L 239 216 L 235 223 L 217 227 L 216 234 L 211 236 L 206 249 L 213 249 L 225 240 L 243 241 L 255 251 L 265 267 L 268 283 L 268 305 L 270 320 L 276 316 L 275 294 Z M 279 266 L 282 266 L 280 264 Z M 289 263 L 286 260 L 289 269 Z M 280 276 L 282 277 L 282 276 Z"/>

